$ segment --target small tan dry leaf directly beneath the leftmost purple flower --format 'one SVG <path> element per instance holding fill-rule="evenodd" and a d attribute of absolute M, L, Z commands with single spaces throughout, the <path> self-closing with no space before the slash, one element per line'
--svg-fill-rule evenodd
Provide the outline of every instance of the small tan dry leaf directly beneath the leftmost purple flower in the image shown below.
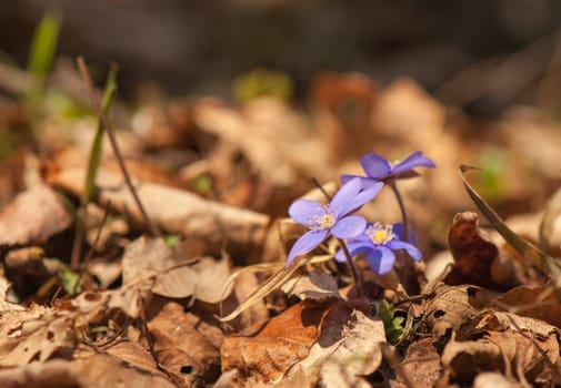
<path fill-rule="evenodd" d="M 341 299 L 337 279 L 325 273 L 311 272 L 305 276 L 292 277 L 282 285 L 281 290 L 301 300 Z"/>

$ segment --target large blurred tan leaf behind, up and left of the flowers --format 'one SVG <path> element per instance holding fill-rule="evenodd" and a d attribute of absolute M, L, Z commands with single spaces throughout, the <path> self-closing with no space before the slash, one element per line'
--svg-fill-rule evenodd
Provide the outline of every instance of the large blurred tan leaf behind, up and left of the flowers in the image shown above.
<path fill-rule="evenodd" d="M 312 136 L 303 115 L 279 100 L 256 100 L 242 111 L 216 100 L 202 101 L 193 114 L 204 131 L 236 144 L 252 167 L 274 186 L 290 186 L 302 173 L 327 177 L 330 169 L 324 142 Z"/>

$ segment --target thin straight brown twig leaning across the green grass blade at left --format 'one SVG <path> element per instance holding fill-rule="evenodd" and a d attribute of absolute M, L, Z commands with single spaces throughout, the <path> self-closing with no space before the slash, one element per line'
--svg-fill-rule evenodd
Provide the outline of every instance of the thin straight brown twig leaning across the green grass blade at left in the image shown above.
<path fill-rule="evenodd" d="M 82 79 L 84 80 L 84 82 L 88 86 L 88 92 L 90 95 L 91 104 L 93 105 L 93 109 L 96 110 L 96 113 L 98 114 L 99 120 L 103 124 L 103 127 L 107 132 L 107 135 L 109 137 L 110 143 L 111 143 L 111 147 L 113 149 L 113 153 L 114 153 L 117 161 L 119 163 L 119 167 L 121 169 L 122 175 L 124 177 L 124 182 L 126 182 L 127 186 L 129 187 L 129 190 L 132 194 L 132 197 L 134 198 L 134 202 L 137 203 L 137 206 L 138 206 L 140 213 L 142 214 L 142 217 L 144 218 L 144 223 L 147 224 L 148 228 L 150 229 L 150 233 L 153 236 L 159 237 L 159 236 L 161 236 L 161 233 L 158 229 L 158 227 L 156 226 L 156 224 L 153 224 L 152 221 L 150 219 L 150 217 L 148 216 L 148 214 L 144 210 L 144 206 L 142 206 L 142 202 L 140 201 L 140 197 L 138 196 L 134 185 L 132 184 L 132 180 L 130 178 L 130 175 L 127 171 L 127 166 L 124 165 L 124 160 L 123 160 L 122 154 L 119 150 L 119 145 L 117 144 L 117 139 L 114 136 L 113 126 L 111 125 L 111 122 L 107 119 L 103 110 L 101 109 L 101 103 L 100 103 L 98 94 L 96 93 L 96 89 L 93 88 L 93 83 L 91 81 L 90 72 L 88 71 L 88 67 L 86 64 L 86 61 L 82 57 L 79 57 L 77 59 L 77 63 L 78 63 L 78 68 L 80 69 L 80 74 L 82 75 Z"/>

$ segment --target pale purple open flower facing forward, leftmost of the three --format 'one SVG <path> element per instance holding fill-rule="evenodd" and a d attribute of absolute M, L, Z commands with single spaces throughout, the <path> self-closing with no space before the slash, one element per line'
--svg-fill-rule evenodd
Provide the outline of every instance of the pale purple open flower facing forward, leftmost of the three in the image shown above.
<path fill-rule="evenodd" d="M 290 249 L 287 267 L 295 256 L 303 255 L 323 243 L 330 235 L 337 238 L 358 236 L 367 227 L 364 217 L 350 215 L 372 200 L 382 188 L 382 183 L 362 190 L 359 178 L 351 178 L 335 193 L 329 204 L 311 200 L 297 200 L 290 205 L 289 214 L 297 223 L 308 226 Z"/>

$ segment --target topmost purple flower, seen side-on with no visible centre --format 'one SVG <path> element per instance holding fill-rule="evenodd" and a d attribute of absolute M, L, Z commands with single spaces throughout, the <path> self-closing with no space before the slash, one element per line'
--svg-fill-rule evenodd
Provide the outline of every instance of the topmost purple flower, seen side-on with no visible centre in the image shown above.
<path fill-rule="evenodd" d="M 343 174 L 341 175 L 341 181 L 348 182 L 353 177 L 360 177 L 362 184 L 367 185 L 371 181 L 382 182 L 390 178 L 403 178 L 415 176 L 417 172 L 413 170 L 415 167 L 429 167 L 434 169 L 434 162 L 422 155 L 421 151 L 413 152 L 403 162 L 388 162 L 382 156 L 370 153 L 362 156 L 360 160 L 362 170 L 367 173 L 367 176 L 358 176 Z"/>

